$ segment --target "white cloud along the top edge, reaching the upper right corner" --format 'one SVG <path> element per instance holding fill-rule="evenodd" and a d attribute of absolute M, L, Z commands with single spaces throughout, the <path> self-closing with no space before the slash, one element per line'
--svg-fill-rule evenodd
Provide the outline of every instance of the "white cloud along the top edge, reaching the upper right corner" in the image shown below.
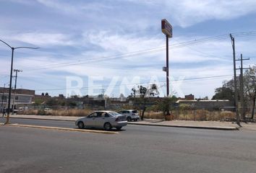
<path fill-rule="evenodd" d="M 189 27 L 210 19 L 234 19 L 256 12 L 255 0 L 127 0 L 161 9 L 177 25 Z"/>

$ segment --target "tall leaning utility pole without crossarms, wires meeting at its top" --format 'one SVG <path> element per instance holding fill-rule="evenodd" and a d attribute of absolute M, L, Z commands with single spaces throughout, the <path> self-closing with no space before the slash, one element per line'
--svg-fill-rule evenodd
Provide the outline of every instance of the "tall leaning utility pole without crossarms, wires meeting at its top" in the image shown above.
<path fill-rule="evenodd" d="M 234 37 L 230 34 L 231 38 L 231 44 L 233 48 L 233 63 L 234 63 L 234 97 L 235 97 L 235 109 L 236 109 L 236 123 L 237 125 L 240 125 L 240 117 L 239 117 L 239 111 L 238 111 L 238 93 L 237 93 L 237 86 L 236 86 L 236 50 L 235 50 L 235 40 Z"/>

